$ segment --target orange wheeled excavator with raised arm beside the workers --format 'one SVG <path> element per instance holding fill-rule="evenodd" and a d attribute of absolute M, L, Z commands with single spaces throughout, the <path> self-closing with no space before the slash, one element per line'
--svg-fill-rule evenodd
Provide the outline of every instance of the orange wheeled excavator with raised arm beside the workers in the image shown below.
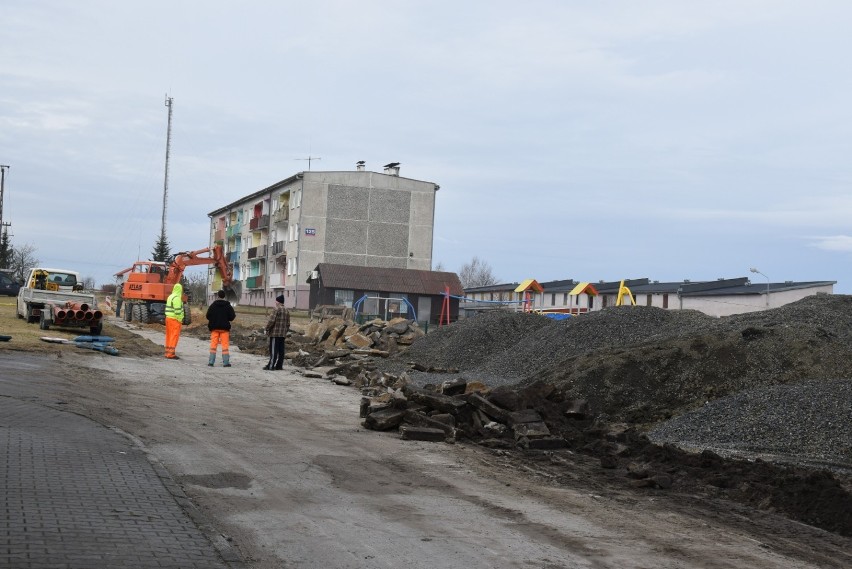
<path fill-rule="evenodd" d="M 177 253 L 169 263 L 136 261 L 132 267 L 122 271 L 127 274 L 122 288 L 124 319 L 128 322 L 162 322 L 165 318 L 166 299 L 172 293 L 172 288 L 181 281 L 187 267 L 196 265 L 214 265 L 222 277 L 225 298 L 231 304 L 237 304 L 240 299 L 239 283 L 234 282 L 233 271 L 225 260 L 222 246 L 216 245 L 198 251 Z M 183 295 L 183 301 L 186 304 L 186 293 Z M 185 309 L 183 323 L 190 322 L 190 311 Z"/>

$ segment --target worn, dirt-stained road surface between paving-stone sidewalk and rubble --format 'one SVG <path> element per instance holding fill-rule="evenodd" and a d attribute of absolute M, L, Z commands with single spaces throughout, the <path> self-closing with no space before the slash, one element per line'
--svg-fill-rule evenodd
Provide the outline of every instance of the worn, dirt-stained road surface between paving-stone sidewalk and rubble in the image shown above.
<path fill-rule="evenodd" d="M 610 483 L 567 451 L 556 480 L 501 451 L 402 441 L 360 426 L 354 388 L 249 354 L 209 368 L 206 351 L 7 352 L 2 384 L 135 437 L 258 569 L 852 566 L 852 540 L 770 512 Z"/>

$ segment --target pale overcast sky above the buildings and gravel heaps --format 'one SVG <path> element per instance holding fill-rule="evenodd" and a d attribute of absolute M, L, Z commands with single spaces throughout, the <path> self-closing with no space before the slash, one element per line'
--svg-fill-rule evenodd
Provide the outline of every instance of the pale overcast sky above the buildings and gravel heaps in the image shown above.
<path fill-rule="evenodd" d="M 298 171 L 435 182 L 501 282 L 852 293 L 852 2 L 37 1 L 0 19 L 3 222 L 98 284 Z M 304 268 L 304 267 L 301 267 Z"/>

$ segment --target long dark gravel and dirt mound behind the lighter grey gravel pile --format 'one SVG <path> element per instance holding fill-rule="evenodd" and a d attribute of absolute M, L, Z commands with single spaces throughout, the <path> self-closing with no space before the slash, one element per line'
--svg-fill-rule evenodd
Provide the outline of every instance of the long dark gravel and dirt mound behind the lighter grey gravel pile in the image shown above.
<path fill-rule="evenodd" d="M 379 365 L 457 369 L 489 386 L 545 381 L 613 420 L 650 423 L 750 387 L 852 377 L 850 332 L 852 297 L 840 295 L 722 319 L 643 306 L 562 322 L 495 312 L 434 331 Z"/>

